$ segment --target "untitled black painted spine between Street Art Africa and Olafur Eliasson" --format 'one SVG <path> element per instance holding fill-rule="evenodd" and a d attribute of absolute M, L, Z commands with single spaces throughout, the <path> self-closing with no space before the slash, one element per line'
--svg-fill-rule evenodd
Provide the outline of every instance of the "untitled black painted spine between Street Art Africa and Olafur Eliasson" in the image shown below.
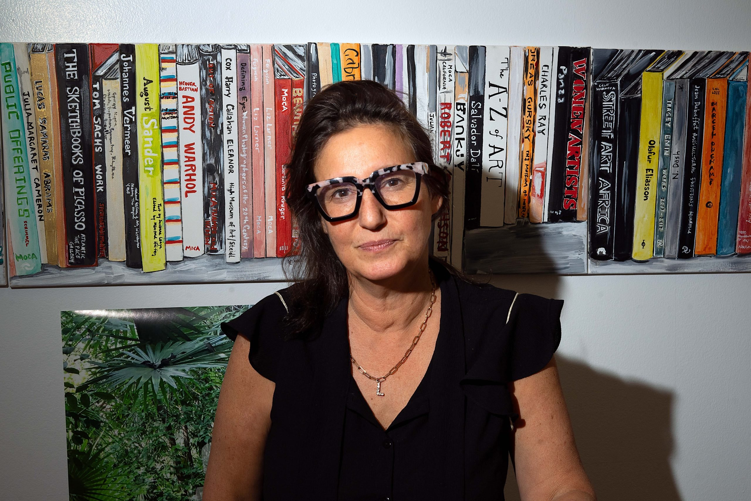
<path fill-rule="evenodd" d="M 616 207 L 613 258 L 626 261 L 634 247 L 634 207 L 639 160 L 641 93 L 620 100 L 616 164 Z"/>

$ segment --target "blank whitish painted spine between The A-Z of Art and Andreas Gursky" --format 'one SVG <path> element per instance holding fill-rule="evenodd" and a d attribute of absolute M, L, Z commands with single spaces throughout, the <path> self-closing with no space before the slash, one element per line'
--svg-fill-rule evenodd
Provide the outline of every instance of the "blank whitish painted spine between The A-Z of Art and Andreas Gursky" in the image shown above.
<path fill-rule="evenodd" d="M 493 226 L 501 226 L 504 223 L 514 225 L 517 216 L 519 216 L 519 181 L 521 179 L 519 155 L 522 101 L 524 98 L 524 47 L 511 47 L 510 57 L 510 63 L 505 71 L 508 74 L 508 86 L 506 86 L 508 91 L 505 92 L 505 95 L 508 96 L 506 98 L 508 107 L 499 111 L 504 113 L 506 117 L 510 116 L 511 120 L 507 119 L 506 122 L 508 125 L 498 129 L 499 134 L 502 134 L 502 131 L 507 131 L 506 137 L 496 139 L 496 146 L 502 147 L 505 150 L 502 152 L 505 164 L 505 174 L 503 176 L 505 195 L 501 197 L 502 215 L 499 215 L 499 217 L 502 220 L 499 221 L 499 224 L 496 223 Z M 485 134 L 487 134 L 487 129 Z"/>

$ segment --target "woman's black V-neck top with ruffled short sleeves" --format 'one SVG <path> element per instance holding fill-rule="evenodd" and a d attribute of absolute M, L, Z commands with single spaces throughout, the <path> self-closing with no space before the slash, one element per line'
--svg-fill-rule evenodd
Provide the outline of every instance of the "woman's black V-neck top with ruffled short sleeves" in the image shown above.
<path fill-rule="evenodd" d="M 313 340 L 283 339 L 277 294 L 222 324 L 233 339 L 248 337 L 250 363 L 276 383 L 263 499 L 503 499 L 510 420 L 518 417 L 506 384 L 550 361 L 563 301 L 514 300 L 513 291 L 431 266 L 442 294 L 436 348 L 387 430 L 352 376 L 346 298 Z M 286 300 L 286 289 L 279 293 Z"/>

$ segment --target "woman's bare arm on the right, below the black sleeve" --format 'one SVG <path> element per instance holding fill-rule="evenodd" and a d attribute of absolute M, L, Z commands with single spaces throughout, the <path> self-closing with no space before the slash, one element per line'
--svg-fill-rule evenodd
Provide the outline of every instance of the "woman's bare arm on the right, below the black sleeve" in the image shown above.
<path fill-rule="evenodd" d="M 594 501 L 581 465 L 555 358 L 540 372 L 509 385 L 516 411 L 512 443 L 519 493 L 524 501 Z"/>

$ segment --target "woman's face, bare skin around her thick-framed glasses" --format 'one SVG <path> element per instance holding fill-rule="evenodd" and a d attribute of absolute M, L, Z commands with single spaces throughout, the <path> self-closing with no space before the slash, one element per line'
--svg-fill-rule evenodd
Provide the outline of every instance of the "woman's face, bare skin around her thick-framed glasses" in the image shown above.
<path fill-rule="evenodd" d="M 330 137 L 313 174 L 316 181 L 342 176 L 364 179 L 381 168 L 426 160 L 415 158 L 405 140 L 388 126 L 358 125 Z M 372 281 L 389 279 L 427 258 L 430 218 L 441 204 L 442 198 L 431 199 L 423 179 L 418 201 L 410 207 L 388 210 L 366 189 L 355 216 L 339 222 L 321 217 L 321 225 L 349 273 Z"/>

